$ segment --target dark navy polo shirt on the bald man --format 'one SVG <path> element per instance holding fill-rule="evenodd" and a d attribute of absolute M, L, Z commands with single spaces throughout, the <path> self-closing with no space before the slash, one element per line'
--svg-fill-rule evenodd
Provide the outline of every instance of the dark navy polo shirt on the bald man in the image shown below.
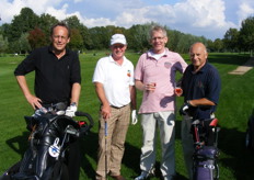
<path fill-rule="evenodd" d="M 196 74 L 193 71 L 194 66 L 188 65 L 183 76 L 182 88 L 184 101 L 206 98 L 217 105 L 221 89 L 218 70 L 210 64 L 206 63 Z M 192 108 L 189 113 L 195 120 L 210 119 L 210 114 L 216 111 L 216 105 Z"/>

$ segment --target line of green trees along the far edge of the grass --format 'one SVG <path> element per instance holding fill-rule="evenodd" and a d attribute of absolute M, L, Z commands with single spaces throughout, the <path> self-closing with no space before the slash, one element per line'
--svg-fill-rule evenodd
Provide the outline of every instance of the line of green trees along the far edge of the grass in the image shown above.
<path fill-rule="evenodd" d="M 23 8 L 11 23 L 0 26 L 0 53 L 26 54 L 34 48 L 49 44 L 50 26 L 58 20 L 50 14 L 37 15 L 30 8 Z M 91 50 L 108 48 L 109 38 L 115 33 L 125 34 L 128 49 L 145 52 L 150 48 L 149 30 L 154 22 L 132 25 L 129 29 L 107 25 L 86 27 L 73 15 L 64 20 L 71 30 L 71 41 L 68 44 L 73 50 Z M 254 16 L 242 22 L 242 27 L 229 29 L 224 38 L 215 41 L 204 36 L 185 34 L 166 27 L 171 50 L 187 53 L 189 46 L 195 42 L 203 42 L 210 52 L 243 52 L 252 50 L 254 44 Z"/>

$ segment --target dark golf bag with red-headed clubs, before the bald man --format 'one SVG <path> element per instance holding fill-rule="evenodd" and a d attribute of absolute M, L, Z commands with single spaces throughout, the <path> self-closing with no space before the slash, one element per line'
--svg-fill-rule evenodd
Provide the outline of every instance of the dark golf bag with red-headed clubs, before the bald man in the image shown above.
<path fill-rule="evenodd" d="M 194 180 L 218 180 L 219 166 L 217 148 L 217 119 L 199 121 L 192 124 L 195 153 L 193 155 Z"/>

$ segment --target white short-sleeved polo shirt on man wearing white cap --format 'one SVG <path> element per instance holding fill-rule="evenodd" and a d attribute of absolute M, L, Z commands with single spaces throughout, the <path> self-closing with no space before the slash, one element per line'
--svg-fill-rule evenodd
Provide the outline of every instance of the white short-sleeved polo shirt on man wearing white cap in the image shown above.
<path fill-rule="evenodd" d="M 101 82 L 104 87 L 107 101 L 111 105 L 120 108 L 130 103 L 129 86 L 135 86 L 134 65 L 124 57 L 122 65 L 112 56 L 99 59 L 93 82 Z"/>

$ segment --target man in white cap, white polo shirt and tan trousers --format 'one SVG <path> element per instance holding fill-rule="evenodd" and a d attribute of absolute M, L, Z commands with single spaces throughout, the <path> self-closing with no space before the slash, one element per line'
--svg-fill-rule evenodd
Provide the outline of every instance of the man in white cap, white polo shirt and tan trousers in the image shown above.
<path fill-rule="evenodd" d="M 130 109 L 132 124 L 137 123 L 134 65 L 125 57 L 126 48 L 125 36 L 114 34 L 111 38 L 112 54 L 99 59 L 93 75 L 95 90 L 101 101 L 96 180 L 105 180 L 107 173 L 116 180 L 124 180 L 120 176 L 120 164 Z"/>

